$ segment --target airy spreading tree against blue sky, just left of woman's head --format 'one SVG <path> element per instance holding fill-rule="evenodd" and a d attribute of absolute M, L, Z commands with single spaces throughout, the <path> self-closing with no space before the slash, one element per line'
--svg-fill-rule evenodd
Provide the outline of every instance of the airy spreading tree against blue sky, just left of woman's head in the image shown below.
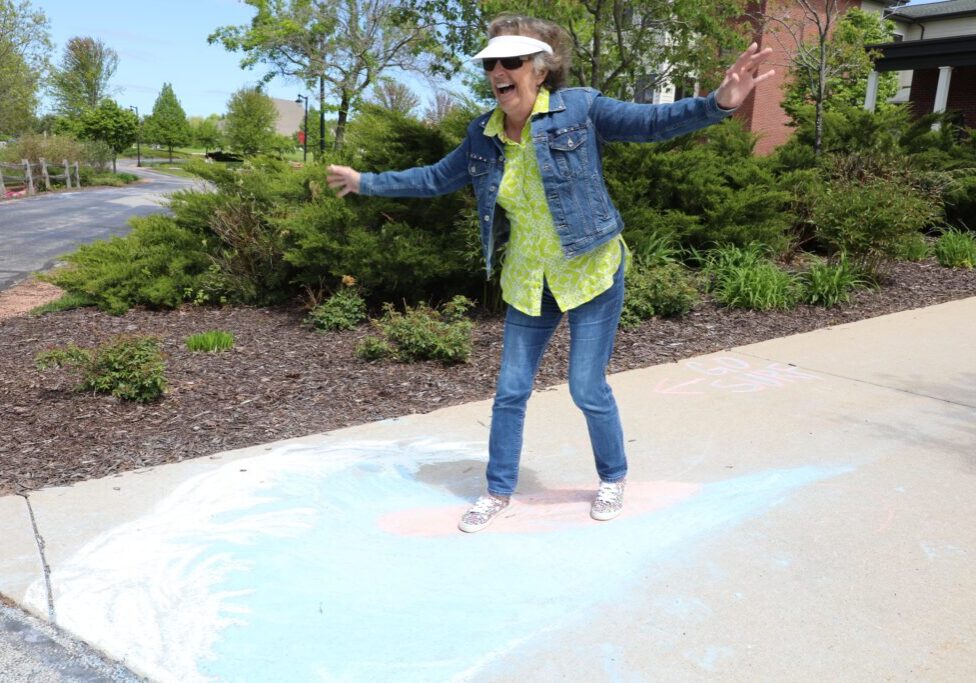
<path fill-rule="evenodd" d="M 384 73 L 427 73 L 433 56 L 446 54 L 436 24 L 394 0 L 245 1 L 257 9 L 250 26 L 224 26 L 208 40 L 243 52 L 243 68 L 266 64 L 265 79 L 280 74 L 317 85 L 320 144 L 328 90 L 338 101 L 330 107 L 338 112 L 335 149 L 342 147 L 350 110 Z"/>

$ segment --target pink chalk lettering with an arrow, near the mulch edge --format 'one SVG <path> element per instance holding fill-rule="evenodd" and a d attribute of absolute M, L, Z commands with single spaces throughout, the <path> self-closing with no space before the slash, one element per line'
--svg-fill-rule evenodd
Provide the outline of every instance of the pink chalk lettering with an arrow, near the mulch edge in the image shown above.
<path fill-rule="evenodd" d="M 822 379 L 816 373 L 788 363 L 756 367 L 732 356 L 689 360 L 681 366 L 695 376 L 691 379 L 665 377 L 654 386 L 654 392 L 671 396 L 700 396 L 708 392 L 744 394 Z"/>

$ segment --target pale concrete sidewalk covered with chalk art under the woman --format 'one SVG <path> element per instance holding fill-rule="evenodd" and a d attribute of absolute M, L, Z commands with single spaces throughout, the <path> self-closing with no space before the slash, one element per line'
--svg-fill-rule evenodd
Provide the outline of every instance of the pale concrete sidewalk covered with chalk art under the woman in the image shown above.
<path fill-rule="evenodd" d="M 0 498 L 0 593 L 154 681 L 976 672 L 976 298 L 566 387 L 482 533 L 490 402 Z"/>

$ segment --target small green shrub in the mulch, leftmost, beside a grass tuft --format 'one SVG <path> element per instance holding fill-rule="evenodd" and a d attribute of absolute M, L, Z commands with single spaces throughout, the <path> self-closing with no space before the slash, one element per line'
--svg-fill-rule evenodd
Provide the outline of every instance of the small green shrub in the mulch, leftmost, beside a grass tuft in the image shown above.
<path fill-rule="evenodd" d="M 117 337 L 94 349 L 74 344 L 37 355 L 39 370 L 51 367 L 80 373 L 79 391 L 111 394 L 124 401 L 147 403 L 166 391 L 165 362 L 159 340 L 153 337 Z"/>

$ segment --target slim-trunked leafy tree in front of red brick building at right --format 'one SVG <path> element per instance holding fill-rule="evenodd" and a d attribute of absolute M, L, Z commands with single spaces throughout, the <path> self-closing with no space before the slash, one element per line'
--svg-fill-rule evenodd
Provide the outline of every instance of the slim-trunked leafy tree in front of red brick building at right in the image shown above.
<path fill-rule="evenodd" d="M 831 103 L 863 103 L 876 58 L 865 45 L 889 39 L 891 23 L 857 8 L 847 10 L 841 0 L 778 0 L 755 16 L 790 55 L 791 83 L 784 109 L 795 117 L 801 105 L 813 105 L 813 150 L 819 156 L 824 111 Z M 882 81 L 889 91 L 897 87 L 894 78 Z"/>

